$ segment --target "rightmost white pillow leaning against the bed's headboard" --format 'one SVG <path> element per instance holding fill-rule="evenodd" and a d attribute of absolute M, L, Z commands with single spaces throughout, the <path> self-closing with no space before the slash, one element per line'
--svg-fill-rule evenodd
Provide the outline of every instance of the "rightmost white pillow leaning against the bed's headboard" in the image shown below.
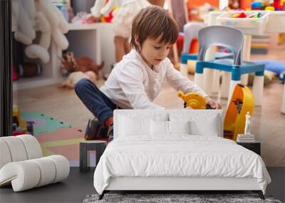
<path fill-rule="evenodd" d="M 217 116 L 209 117 L 207 120 L 192 120 L 190 121 L 191 135 L 205 135 L 218 137 L 219 125 Z"/>

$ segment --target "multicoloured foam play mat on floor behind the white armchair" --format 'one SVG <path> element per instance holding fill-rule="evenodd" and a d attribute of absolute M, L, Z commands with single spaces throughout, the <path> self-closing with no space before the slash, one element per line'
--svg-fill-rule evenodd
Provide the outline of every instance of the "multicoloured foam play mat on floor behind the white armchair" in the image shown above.
<path fill-rule="evenodd" d="M 21 118 L 33 122 L 33 135 L 44 156 L 63 155 L 71 167 L 79 166 L 79 142 L 84 140 L 80 129 L 42 113 L 22 113 Z"/>

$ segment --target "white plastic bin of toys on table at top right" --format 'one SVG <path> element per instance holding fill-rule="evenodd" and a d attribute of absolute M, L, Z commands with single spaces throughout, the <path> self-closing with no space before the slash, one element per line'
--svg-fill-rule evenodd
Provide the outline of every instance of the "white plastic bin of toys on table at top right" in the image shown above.
<path fill-rule="evenodd" d="M 269 11 L 260 12 L 260 18 L 231 18 L 232 14 L 244 12 L 247 16 L 258 14 L 260 11 L 229 11 L 217 17 L 217 22 L 222 26 L 231 26 L 240 29 L 247 35 L 261 35 L 264 33 L 269 19 Z"/>

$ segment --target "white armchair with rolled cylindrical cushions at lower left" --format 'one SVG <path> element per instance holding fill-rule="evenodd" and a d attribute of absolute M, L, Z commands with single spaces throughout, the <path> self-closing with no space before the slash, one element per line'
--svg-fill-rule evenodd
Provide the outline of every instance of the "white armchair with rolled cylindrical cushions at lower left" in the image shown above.
<path fill-rule="evenodd" d="M 0 187 L 12 184 L 14 192 L 60 182 L 69 175 L 66 157 L 43 157 L 32 135 L 0 137 Z"/>

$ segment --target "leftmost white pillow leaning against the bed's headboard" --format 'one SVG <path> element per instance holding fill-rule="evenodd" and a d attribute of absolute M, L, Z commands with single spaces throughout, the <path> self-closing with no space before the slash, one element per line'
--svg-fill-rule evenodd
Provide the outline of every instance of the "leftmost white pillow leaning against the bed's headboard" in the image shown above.
<path fill-rule="evenodd" d="M 150 119 L 120 116 L 120 136 L 150 135 Z"/>

